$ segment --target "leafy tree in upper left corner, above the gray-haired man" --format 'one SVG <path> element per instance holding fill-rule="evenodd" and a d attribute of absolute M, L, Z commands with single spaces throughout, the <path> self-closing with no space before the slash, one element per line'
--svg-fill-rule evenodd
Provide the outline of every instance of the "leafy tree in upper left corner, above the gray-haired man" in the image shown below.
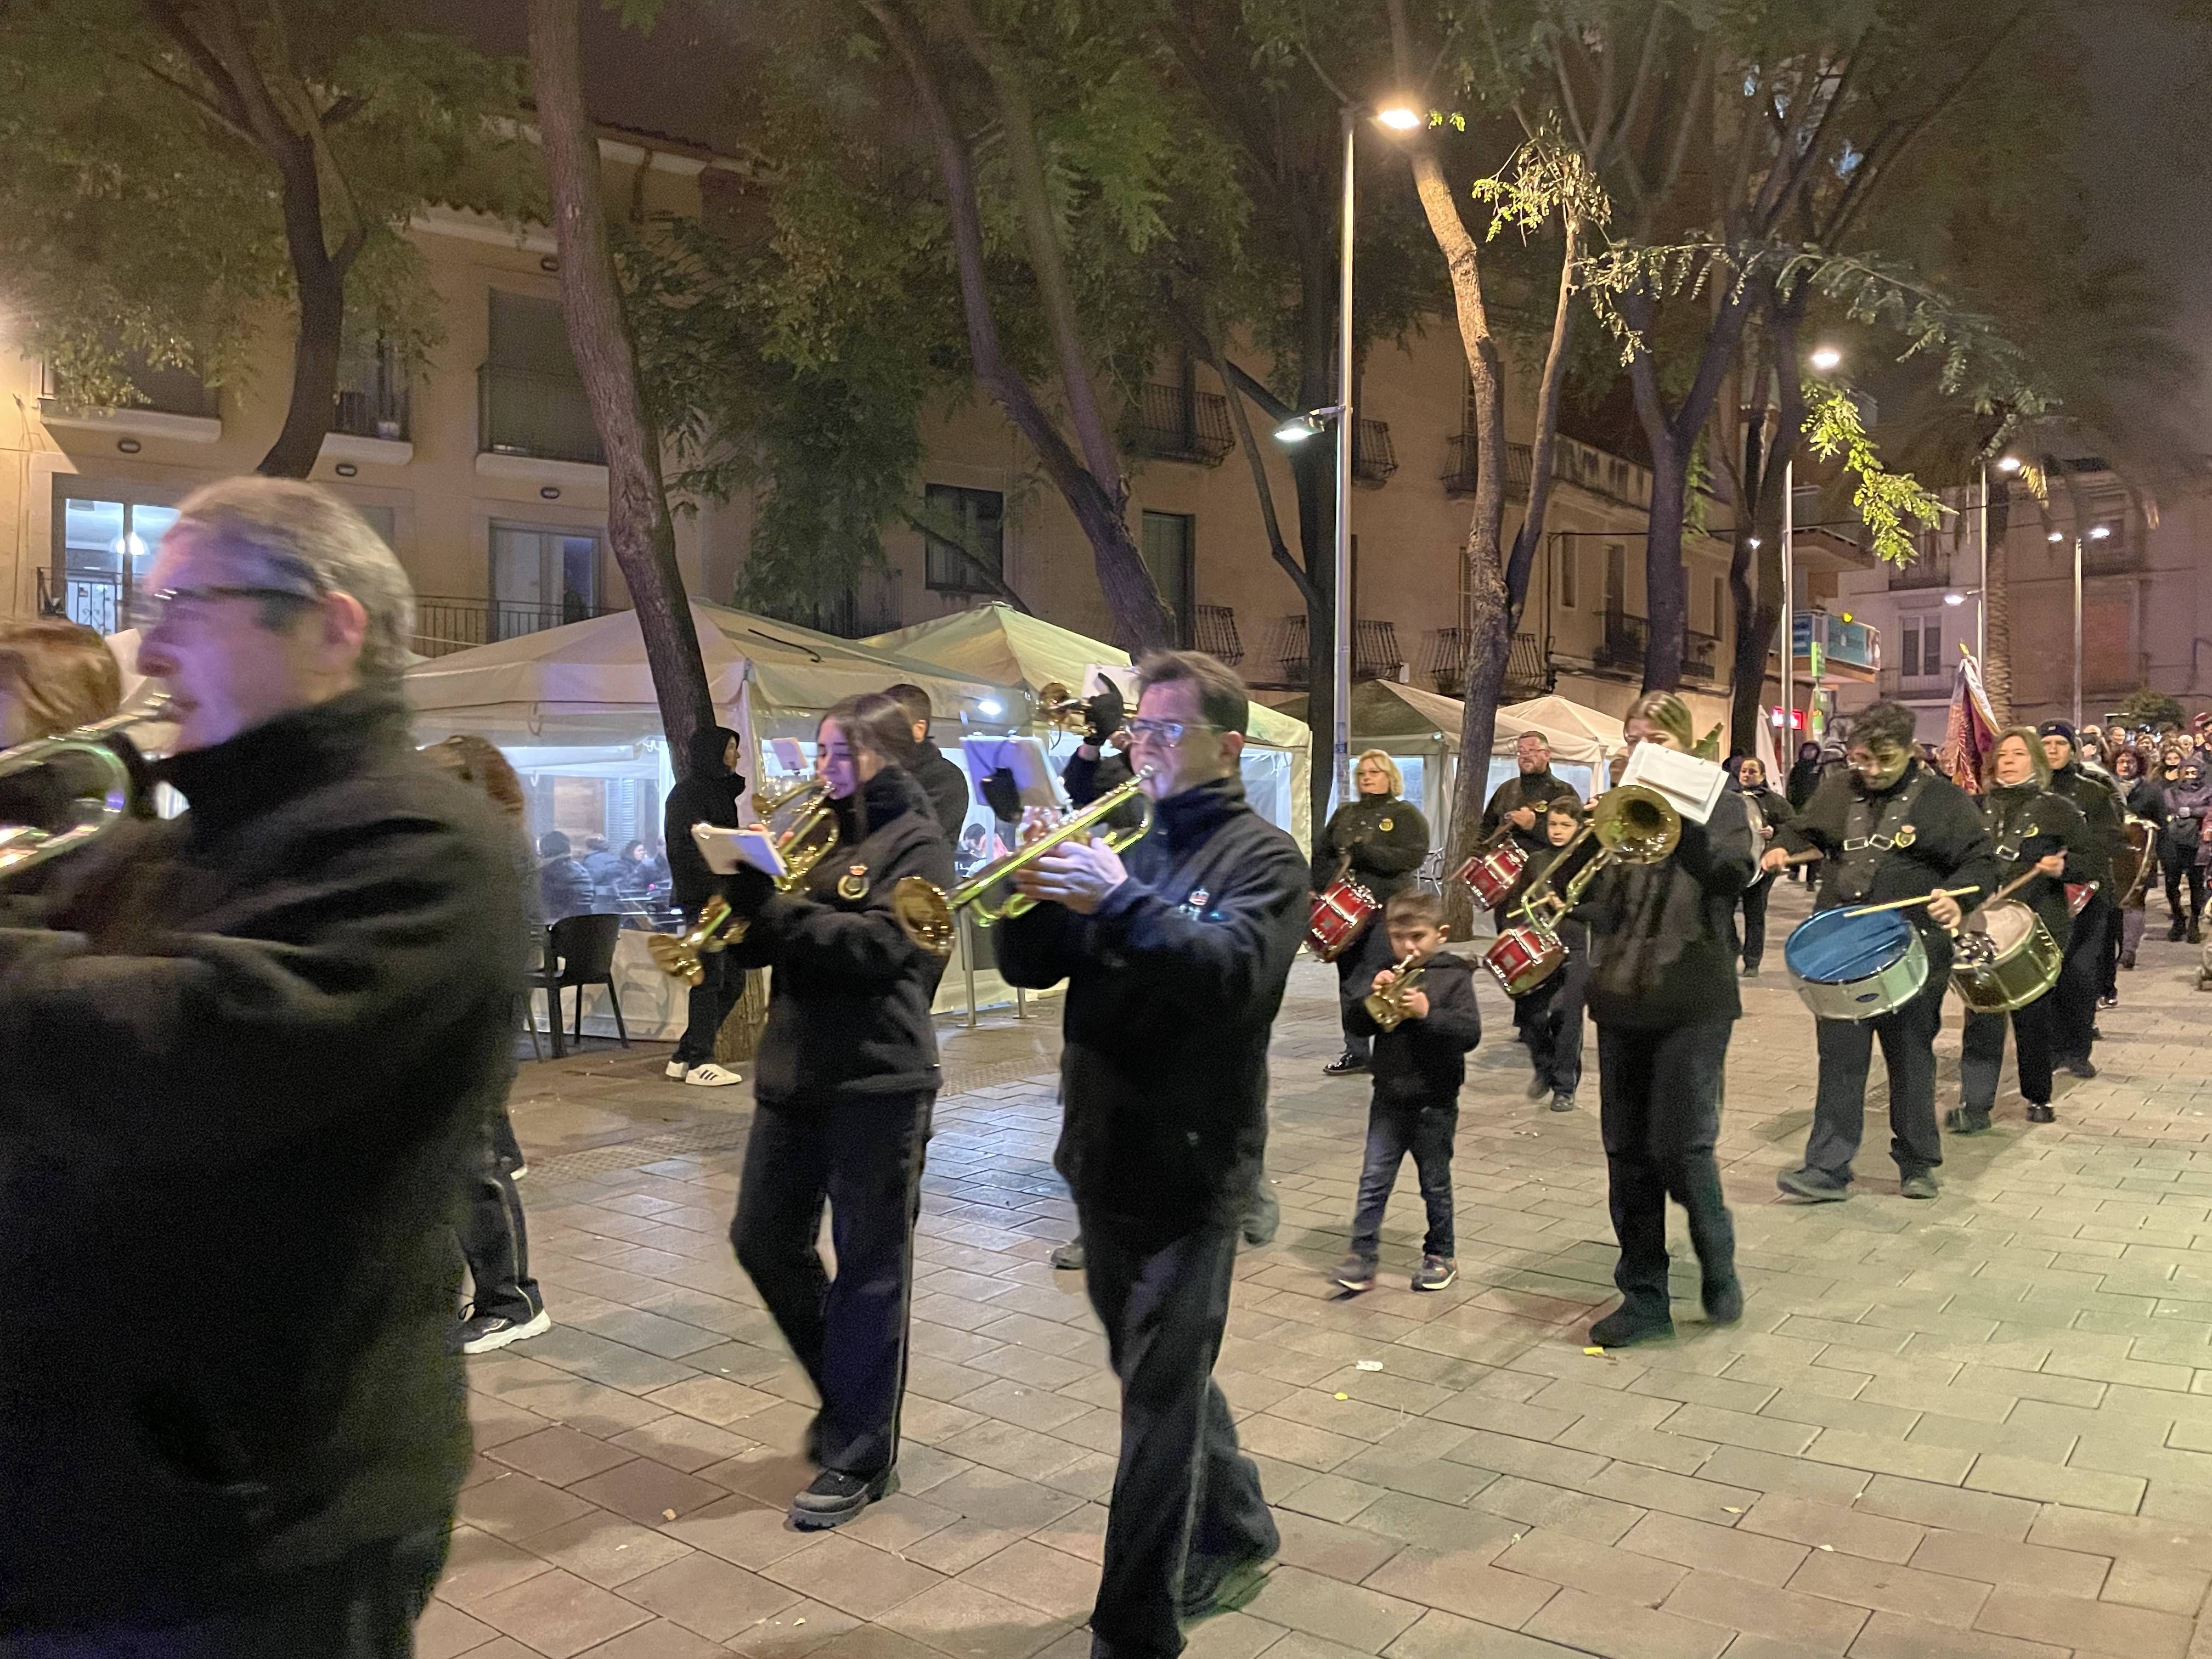
<path fill-rule="evenodd" d="M 416 367 L 438 343 L 409 219 L 535 201 L 520 66 L 374 7 L 29 0 L 0 11 L 0 64 L 22 343 L 64 396 L 133 403 L 133 367 L 237 376 L 265 305 L 290 305 L 265 473 L 314 467 L 349 336 Z"/>

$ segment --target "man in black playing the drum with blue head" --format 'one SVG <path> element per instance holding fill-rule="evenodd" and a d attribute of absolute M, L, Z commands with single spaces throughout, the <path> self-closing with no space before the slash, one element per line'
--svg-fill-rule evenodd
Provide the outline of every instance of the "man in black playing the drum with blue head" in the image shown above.
<path fill-rule="evenodd" d="M 1851 723 L 1845 770 L 1820 781 L 1812 801 L 1774 834 L 1761 865 L 1781 869 L 1796 854 L 1820 854 L 1814 909 L 1880 905 L 1971 887 L 1969 902 L 1997 889 L 1997 860 L 1973 799 L 1913 754 L 1913 710 L 1871 703 Z M 1832 1203 L 1851 1192 L 1851 1159 L 1867 1117 L 1867 1064 L 1874 1040 L 1889 1068 L 1889 1155 L 1898 1192 L 1933 1199 L 1942 1164 L 1936 1128 L 1936 1029 L 1951 973 L 1955 898 L 1900 911 L 1918 931 L 1929 978 L 1918 995 L 1874 1020 L 1818 1020 L 1820 1088 L 1812 1108 L 1805 1164 L 1774 1177 L 1783 1192 Z"/>

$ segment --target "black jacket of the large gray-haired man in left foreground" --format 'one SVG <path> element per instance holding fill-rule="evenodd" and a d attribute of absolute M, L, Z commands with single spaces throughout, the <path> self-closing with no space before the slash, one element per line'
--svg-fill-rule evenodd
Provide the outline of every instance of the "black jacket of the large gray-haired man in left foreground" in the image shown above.
<path fill-rule="evenodd" d="M 188 816 L 0 931 L 0 1630 L 259 1599 L 469 1467 L 451 1225 L 511 1068 L 513 830 L 383 692 L 159 776 Z"/>

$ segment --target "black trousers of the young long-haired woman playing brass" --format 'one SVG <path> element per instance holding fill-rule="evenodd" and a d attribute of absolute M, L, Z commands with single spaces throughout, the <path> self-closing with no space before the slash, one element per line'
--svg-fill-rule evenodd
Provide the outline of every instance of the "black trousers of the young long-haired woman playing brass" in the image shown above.
<path fill-rule="evenodd" d="M 898 1460 L 914 1217 L 936 1093 L 761 1106 L 730 1243 L 821 1396 L 821 1464 L 880 1475 Z M 823 1203 L 836 1279 L 823 1272 Z"/>

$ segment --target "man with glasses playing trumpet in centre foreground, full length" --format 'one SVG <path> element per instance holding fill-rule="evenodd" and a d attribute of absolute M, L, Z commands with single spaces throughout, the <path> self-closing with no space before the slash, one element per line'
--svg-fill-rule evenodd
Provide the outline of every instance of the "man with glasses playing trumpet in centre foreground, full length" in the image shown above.
<path fill-rule="evenodd" d="M 1248 714 L 1212 657 L 1146 657 L 1128 730 L 1152 834 L 1044 854 L 1020 876 L 1044 902 L 995 929 L 1013 984 L 1068 982 L 1053 1164 L 1121 1378 L 1095 1659 L 1181 1652 L 1179 1617 L 1279 1546 L 1212 1383 L 1267 1139 L 1267 1031 L 1305 931 L 1305 860 L 1243 796 Z"/>

